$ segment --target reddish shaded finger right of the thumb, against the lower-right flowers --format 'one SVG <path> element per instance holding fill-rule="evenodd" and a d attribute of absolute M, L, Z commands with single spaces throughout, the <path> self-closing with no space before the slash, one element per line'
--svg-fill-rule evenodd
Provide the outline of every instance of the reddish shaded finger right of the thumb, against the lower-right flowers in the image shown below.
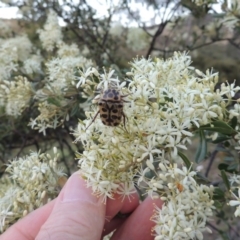
<path fill-rule="evenodd" d="M 128 217 L 119 229 L 113 234 L 111 240 L 119 239 L 138 239 L 152 240 L 151 230 L 155 223 L 151 221 L 156 206 L 159 208 L 163 202 L 160 199 L 152 200 L 147 198 L 142 204 Z"/>

